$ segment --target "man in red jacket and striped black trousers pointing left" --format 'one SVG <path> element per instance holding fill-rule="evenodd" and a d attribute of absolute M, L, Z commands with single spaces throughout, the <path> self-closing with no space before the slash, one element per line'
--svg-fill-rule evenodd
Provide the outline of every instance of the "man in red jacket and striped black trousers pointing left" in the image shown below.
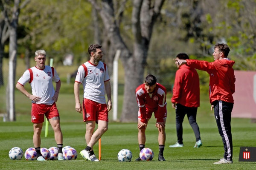
<path fill-rule="evenodd" d="M 231 133 L 231 112 L 234 105 L 235 93 L 234 61 L 227 58 L 230 48 L 227 44 L 219 43 L 214 46 L 214 62 L 194 59 L 174 59 L 177 65 L 186 64 L 189 67 L 207 71 L 210 76 L 209 98 L 214 116 L 224 145 L 224 158 L 214 164 L 232 164 L 233 143 Z"/>

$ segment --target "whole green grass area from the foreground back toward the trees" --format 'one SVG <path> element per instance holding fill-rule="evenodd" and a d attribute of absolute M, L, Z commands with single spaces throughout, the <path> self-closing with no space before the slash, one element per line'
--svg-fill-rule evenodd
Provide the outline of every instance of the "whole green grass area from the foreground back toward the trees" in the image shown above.
<path fill-rule="evenodd" d="M 19 65 L 17 79 L 23 74 L 24 65 Z M 5 68 L 6 69 L 6 68 Z M 62 79 L 68 69 L 59 67 Z M 71 69 L 71 71 L 73 71 Z M 64 80 L 61 80 L 64 82 Z M 29 86 L 27 86 L 29 89 Z M 75 101 L 73 95 L 73 83 L 62 84 L 61 93 L 57 102 L 57 107 L 61 115 L 61 129 L 63 132 L 63 145 L 74 147 L 79 153 L 86 147 L 84 133 L 85 123 L 82 115 L 75 111 Z M 69 90 L 70 89 L 70 90 Z M 65 93 L 64 93 L 65 92 Z M 19 91 L 15 90 L 16 122 L 3 122 L 0 117 L 0 169 L 12 170 L 57 170 L 57 169 L 93 169 L 93 170 L 255 170 L 256 162 L 239 162 L 239 151 L 241 146 L 256 147 L 256 124 L 250 119 L 232 119 L 233 132 L 233 164 L 212 164 L 223 157 L 223 144 L 218 134 L 218 128 L 210 111 L 209 99 L 202 94 L 201 106 L 198 108 L 197 122 L 201 131 L 201 148 L 193 148 L 195 136 L 188 120 L 183 122 L 183 143 L 182 148 L 169 148 L 170 144 L 177 141 L 175 130 L 175 110 L 171 108 L 171 94 L 167 95 L 168 118 L 166 122 L 166 147 L 164 157 L 166 161 L 157 161 L 158 142 L 157 128 L 154 127 L 154 120 L 149 121 L 146 130 L 146 144 L 154 151 L 154 159 L 147 162 L 137 162 L 139 156 L 137 141 L 137 123 L 109 122 L 108 131 L 102 136 L 102 160 L 99 162 L 85 161 L 80 155 L 74 161 L 26 161 L 23 157 L 20 161 L 9 158 L 9 150 L 12 147 L 20 147 L 23 152 L 29 147 L 33 147 L 32 136 L 33 126 L 30 122 L 31 102 Z M 119 95 L 118 117 L 122 111 L 122 94 Z M 0 88 L 0 113 L 5 111 L 5 88 Z M 112 112 L 109 113 L 112 119 Z M 48 137 L 44 137 L 43 128 L 41 134 L 41 147 L 56 147 L 52 128 L 49 126 Z M 131 162 L 119 162 L 117 153 L 121 149 L 129 149 L 133 153 Z M 94 152 L 98 157 L 98 143 L 94 146 Z"/>

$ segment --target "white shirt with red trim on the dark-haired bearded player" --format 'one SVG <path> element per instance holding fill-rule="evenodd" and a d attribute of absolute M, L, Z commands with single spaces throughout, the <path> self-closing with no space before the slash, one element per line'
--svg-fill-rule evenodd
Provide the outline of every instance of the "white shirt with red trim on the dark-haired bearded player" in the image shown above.
<path fill-rule="evenodd" d="M 105 104 L 105 85 L 109 81 L 108 68 L 105 63 L 93 65 L 90 61 L 80 65 L 76 74 L 76 82 L 83 83 L 84 98 Z"/>

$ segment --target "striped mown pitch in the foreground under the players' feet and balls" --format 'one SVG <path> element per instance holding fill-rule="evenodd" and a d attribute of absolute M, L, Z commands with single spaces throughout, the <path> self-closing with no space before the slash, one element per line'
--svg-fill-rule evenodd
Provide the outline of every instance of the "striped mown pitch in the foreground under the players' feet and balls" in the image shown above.
<path fill-rule="evenodd" d="M 19 118 L 19 117 L 18 117 Z M 19 118 L 20 119 L 20 118 Z M 210 117 L 211 119 L 211 117 Z M 200 122 L 200 121 L 199 121 Z M 250 123 L 249 119 L 232 119 L 233 131 L 233 160 L 234 164 L 212 164 L 223 156 L 223 144 L 218 134 L 215 122 L 198 123 L 201 130 L 203 146 L 193 148 L 195 136 L 188 123 L 184 122 L 183 140 L 184 147 L 169 148 L 176 140 L 175 125 L 166 125 L 166 147 L 164 156 L 167 161 L 157 161 L 158 142 L 157 129 L 154 122 L 150 121 L 146 131 L 146 145 L 154 151 L 153 161 L 137 162 L 139 155 L 137 143 L 137 123 L 110 122 L 108 131 L 102 136 L 102 160 L 89 162 L 78 155 L 75 161 L 21 161 L 9 159 L 8 153 L 12 147 L 20 147 L 25 150 L 33 147 L 33 127 L 31 122 L 0 122 L 0 169 L 96 169 L 96 170 L 243 170 L 255 169 L 255 162 L 239 162 L 240 146 L 255 147 L 256 124 Z M 63 122 L 61 129 L 64 136 L 64 146 L 74 147 L 78 154 L 86 146 L 84 122 Z M 44 137 L 44 128 L 41 135 L 41 147 L 56 146 L 54 133 L 49 128 L 48 137 Z M 131 162 L 118 162 L 117 153 L 127 148 L 133 153 Z M 94 146 L 98 156 L 98 143 Z"/>

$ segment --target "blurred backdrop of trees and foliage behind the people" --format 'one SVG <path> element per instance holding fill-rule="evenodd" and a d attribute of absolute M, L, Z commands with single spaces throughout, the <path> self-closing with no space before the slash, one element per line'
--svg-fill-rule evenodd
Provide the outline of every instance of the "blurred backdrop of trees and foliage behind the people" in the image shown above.
<path fill-rule="evenodd" d="M 20 0 L 20 6 L 24 2 Z M 11 48 L 4 13 L 8 9 L 11 15 L 14 3 L 1 0 L 6 8 L 1 8 L 0 16 L 0 86 L 7 83 L 3 81 L 1 60 L 9 57 Z M 122 112 L 137 115 L 134 87 L 151 73 L 171 91 L 177 70 L 172 59 L 180 52 L 191 59 L 213 61 L 214 44 L 226 42 L 231 49 L 228 57 L 236 61 L 234 68 L 255 71 L 255 11 L 256 0 L 29 0 L 20 8 L 17 57 L 24 58 L 29 68 L 29 58 L 42 48 L 58 65 L 68 54 L 73 55 L 74 64 L 80 65 L 89 59 L 88 45 L 99 43 L 111 75 L 114 54 L 121 48 L 124 94 L 129 96 L 124 99 Z M 201 91 L 207 93 L 208 75 L 198 73 Z"/>

